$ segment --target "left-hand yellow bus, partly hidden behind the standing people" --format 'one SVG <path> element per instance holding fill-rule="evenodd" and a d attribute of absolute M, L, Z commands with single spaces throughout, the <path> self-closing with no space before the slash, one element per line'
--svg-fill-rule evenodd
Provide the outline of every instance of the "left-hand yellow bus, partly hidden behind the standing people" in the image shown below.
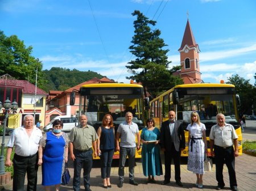
<path fill-rule="evenodd" d="M 144 95 L 141 85 L 126 83 L 85 84 L 80 87 L 78 93 L 80 95 L 79 116 L 85 114 L 88 118 L 88 124 L 92 125 L 96 132 L 101 126 L 105 114 L 111 114 L 116 133 L 119 124 L 125 121 L 126 112 L 133 113 L 133 122 L 138 125 L 140 133 L 141 129 L 144 128 Z M 72 92 L 72 94 L 74 93 Z M 75 95 L 71 95 L 71 100 L 72 97 L 74 98 Z M 136 151 L 135 158 L 141 158 L 141 149 Z M 114 153 L 113 159 L 119 159 L 119 152 Z"/>

